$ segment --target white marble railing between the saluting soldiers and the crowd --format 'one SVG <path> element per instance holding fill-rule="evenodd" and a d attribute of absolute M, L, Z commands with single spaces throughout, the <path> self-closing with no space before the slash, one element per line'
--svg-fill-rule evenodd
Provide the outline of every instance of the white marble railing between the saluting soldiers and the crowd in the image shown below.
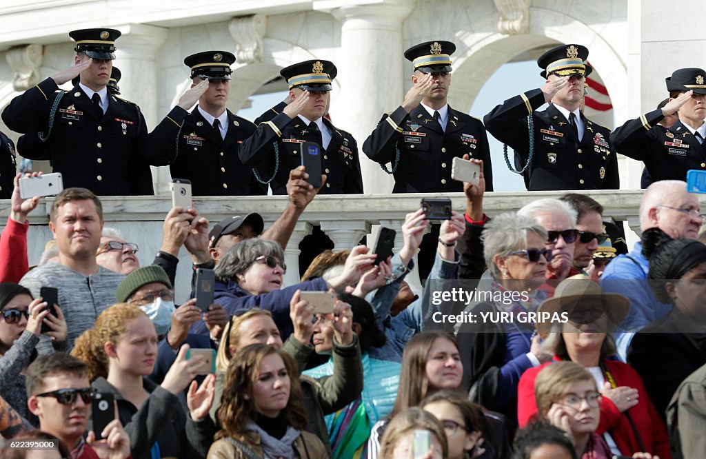
<path fill-rule="evenodd" d="M 522 205 L 537 198 L 558 197 L 563 193 L 555 191 L 533 191 L 525 193 L 488 193 L 484 206 L 488 215 L 517 210 Z M 640 223 L 638 209 L 642 190 L 591 191 L 587 193 L 602 203 L 604 217 L 616 221 L 626 221 L 633 232 L 638 233 Z M 321 225 L 321 229 L 335 244 L 335 249 L 349 249 L 371 232 L 373 225 L 383 225 L 397 230 L 395 248 L 402 246 L 400 227 L 405 215 L 419 208 L 423 197 L 448 197 L 457 212 L 465 210 L 466 199 L 462 193 L 448 194 L 376 194 L 357 196 L 317 196 L 294 229 L 292 239 L 285 251 L 285 261 L 289 270 L 285 284 L 291 285 L 299 279 L 297 257 L 299 242 L 311 232 L 311 225 Z M 152 263 L 162 242 L 162 222 L 172 206 L 171 196 L 107 196 L 101 198 L 105 225 L 118 229 L 128 242 L 139 246 L 138 258 L 143 266 Z M 286 196 L 234 196 L 229 198 L 196 198 L 196 208 L 208 218 L 212 227 L 215 222 L 232 215 L 257 212 L 265 220 L 265 227 L 280 216 L 287 205 Z M 706 203 L 706 202 L 705 202 Z M 52 239 L 49 230 L 49 208 L 52 198 L 40 203 L 30 214 L 31 227 L 28 234 L 30 265 L 39 261 L 44 243 Z M 9 201 L 0 201 L 1 223 L 7 220 Z M 626 231 L 628 228 L 626 227 Z M 634 239 L 634 237 L 633 237 Z M 368 239 L 374 244 L 373 237 Z M 628 241 L 629 242 L 629 241 Z M 632 244 L 630 243 L 630 246 Z M 177 272 L 177 299 L 188 297 L 191 279 L 191 258 L 182 249 Z M 419 279 L 412 273 L 409 280 L 413 287 L 419 286 Z"/>

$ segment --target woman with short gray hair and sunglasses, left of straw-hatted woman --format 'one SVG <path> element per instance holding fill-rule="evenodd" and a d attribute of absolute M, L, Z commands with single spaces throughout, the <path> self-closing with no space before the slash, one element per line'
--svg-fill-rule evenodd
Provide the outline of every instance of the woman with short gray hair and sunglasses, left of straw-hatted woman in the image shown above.
<path fill-rule="evenodd" d="M 534 323 L 518 320 L 520 313 L 536 311 L 546 298 L 542 291 L 534 292 L 544 283 L 551 251 L 544 247 L 546 229 L 534 219 L 514 213 L 489 221 L 482 237 L 493 282 L 481 283 L 478 290 L 489 293 L 492 301 L 469 306 L 467 311 L 478 320 L 462 324 L 457 332 L 463 386 L 470 389 L 471 400 L 503 413 L 508 427 L 513 427 L 520 376 L 551 359 L 551 354 L 542 351 L 539 336 L 533 334 Z M 515 320 L 502 323 L 487 318 L 501 313 L 513 313 Z"/>

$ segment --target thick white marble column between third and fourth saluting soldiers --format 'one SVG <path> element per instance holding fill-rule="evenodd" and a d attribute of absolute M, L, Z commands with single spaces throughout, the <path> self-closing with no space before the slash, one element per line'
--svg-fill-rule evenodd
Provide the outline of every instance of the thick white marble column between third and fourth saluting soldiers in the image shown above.
<path fill-rule="evenodd" d="M 363 153 L 363 143 L 383 113 L 397 108 L 404 98 L 405 68 L 402 53 L 402 21 L 414 9 L 413 0 L 366 1 L 318 0 L 313 9 L 330 12 L 341 22 L 342 59 L 336 81 L 340 94 L 333 95 L 331 117 L 350 130 L 358 142 L 366 193 L 390 193 L 393 176 Z M 383 51 L 384 50 L 384 51 Z"/>

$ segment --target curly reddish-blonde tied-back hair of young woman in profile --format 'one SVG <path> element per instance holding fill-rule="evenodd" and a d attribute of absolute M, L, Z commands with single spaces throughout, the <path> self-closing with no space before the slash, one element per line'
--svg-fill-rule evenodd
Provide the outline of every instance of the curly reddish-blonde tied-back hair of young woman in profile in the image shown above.
<path fill-rule="evenodd" d="M 138 317 L 147 317 L 147 314 L 132 304 L 114 304 L 100 313 L 92 329 L 81 333 L 71 355 L 85 362 L 89 381 L 108 377 L 108 356 L 103 346 L 106 342 L 117 344 L 127 333 L 128 324 Z"/>

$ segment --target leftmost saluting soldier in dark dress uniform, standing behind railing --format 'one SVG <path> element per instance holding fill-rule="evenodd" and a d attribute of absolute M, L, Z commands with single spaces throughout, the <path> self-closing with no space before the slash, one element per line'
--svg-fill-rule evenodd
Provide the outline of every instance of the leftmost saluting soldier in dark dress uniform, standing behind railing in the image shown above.
<path fill-rule="evenodd" d="M 76 40 L 75 65 L 15 97 L 3 121 L 16 132 L 40 133 L 40 150 L 66 188 L 82 186 L 100 196 L 154 194 L 145 118 L 135 103 L 107 90 L 120 32 L 82 29 L 68 35 Z M 59 90 L 76 76 L 73 89 Z"/>

